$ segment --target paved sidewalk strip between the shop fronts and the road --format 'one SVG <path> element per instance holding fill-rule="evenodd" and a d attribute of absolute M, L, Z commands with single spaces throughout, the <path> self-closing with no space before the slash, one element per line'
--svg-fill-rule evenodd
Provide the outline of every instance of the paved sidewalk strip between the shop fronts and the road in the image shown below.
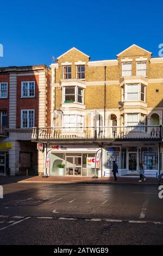
<path fill-rule="evenodd" d="M 106 178 L 87 178 L 87 177 L 70 177 L 70 176 L 49 176 L 48 178 L 42 178 L 41 176 L 0 176 L 0 184 L 7 183 L 90 183 L 90 184 L 146 184 L 146 185 L 158 185 L 156 178 L 147 178 L 146 182 L 138 182 L 139 176 L 137 177 L 120 177 L 117 181 L 114 181 L 113 177 Z M 161 180 L 163 183 L 163 179 Z"/>

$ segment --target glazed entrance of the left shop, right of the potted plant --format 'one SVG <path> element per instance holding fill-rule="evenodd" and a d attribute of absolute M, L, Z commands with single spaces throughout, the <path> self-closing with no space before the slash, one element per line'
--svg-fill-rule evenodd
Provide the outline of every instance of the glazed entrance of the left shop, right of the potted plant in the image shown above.
<path fill-rule="evenodd" d="M 82 175 L 82 156 L 66 156 L 66 175 Z"/>

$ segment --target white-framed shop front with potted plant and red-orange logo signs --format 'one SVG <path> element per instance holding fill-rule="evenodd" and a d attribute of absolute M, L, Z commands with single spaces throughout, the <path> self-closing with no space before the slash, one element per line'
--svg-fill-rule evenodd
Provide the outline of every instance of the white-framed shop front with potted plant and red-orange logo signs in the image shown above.
<path fill-rule="evenodd" d="M 95 175 L 97 145 L 49 145 L 46 162 L 48 175 Z M 60 168 L 63 169 L 61 174 Z"/>

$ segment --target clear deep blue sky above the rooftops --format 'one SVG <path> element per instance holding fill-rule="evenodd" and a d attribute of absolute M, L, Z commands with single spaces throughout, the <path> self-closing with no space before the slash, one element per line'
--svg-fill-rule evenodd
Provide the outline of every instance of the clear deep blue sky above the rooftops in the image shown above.
<path fill-rule="evenodd" d="M 0 67 L 51 64 L 71 47 L 91 60 L 115 59 L 132 44 L 163 43 L 162 1 L 1 1 Z"/>

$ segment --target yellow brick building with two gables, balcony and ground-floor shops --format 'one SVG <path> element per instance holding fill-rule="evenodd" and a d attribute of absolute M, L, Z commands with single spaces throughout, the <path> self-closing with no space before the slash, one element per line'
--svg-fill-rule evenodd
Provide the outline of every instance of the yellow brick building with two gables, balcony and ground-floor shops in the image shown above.
<path fill-rule="evenodd" d="M 74 47 L 58 57 L 51 64 L 51 126 L 34 129 L 32 136 L 46 142 L 46 153 L 39 153 L 45 156 L 44 172 L 60 175 L 62 163 L 62 175 L 92 176 L 95 169 L 87 161 L 99 150 L 99 176 L 112 175 L 112 160 L 119 175 L 139 174 L 143 161 L 146 175 L 157 176 L 163 151 L 162 71 L 163 58 L 152 58 L 136 45 L 113 60 L 90 61 Z"/>

